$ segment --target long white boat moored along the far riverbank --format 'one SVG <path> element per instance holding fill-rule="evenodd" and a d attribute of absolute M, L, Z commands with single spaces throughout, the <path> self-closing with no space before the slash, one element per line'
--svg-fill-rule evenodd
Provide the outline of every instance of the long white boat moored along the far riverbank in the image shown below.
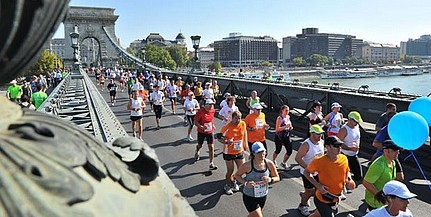
<path fill-rule="evenodd" d="M 377 71 L 372 68 L 321 70 L 319 76 L 322 79 L 369 78 L 377 76 Z"/>

